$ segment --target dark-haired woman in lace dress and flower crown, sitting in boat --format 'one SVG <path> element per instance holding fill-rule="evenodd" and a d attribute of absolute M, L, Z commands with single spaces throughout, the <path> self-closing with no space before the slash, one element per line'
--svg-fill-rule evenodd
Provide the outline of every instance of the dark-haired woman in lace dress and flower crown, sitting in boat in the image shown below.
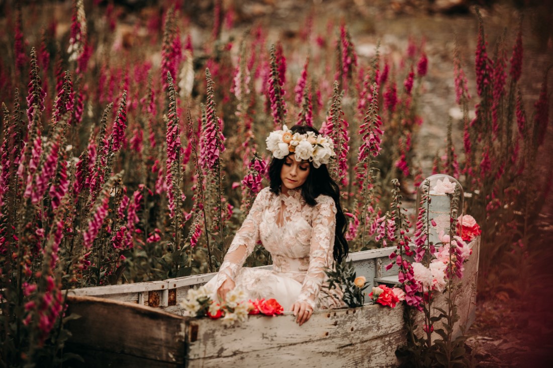
<path fill-rule="evenodd" d="M 331 139 L 307 126 L 270 133 L 270 186 L 255 198 L 210 281 L 218 298 L 225 299 L 239 286 L 252 299 L 275 298 L 285 311 L 294 312 L 300 325 L 315 308 L 344 305 L 340 296 L 320 292 L 325 269 L 348 253 L 340 190 L 326 167 L 334 155 L 332 146 Z M 273 270 L 242 267 L 259 240 L 272 255 Z"/>

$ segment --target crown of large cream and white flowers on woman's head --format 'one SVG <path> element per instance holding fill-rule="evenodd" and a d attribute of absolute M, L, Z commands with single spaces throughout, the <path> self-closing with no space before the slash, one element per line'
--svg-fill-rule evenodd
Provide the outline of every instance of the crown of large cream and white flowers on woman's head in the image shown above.
<path fill-rule="evenodd" d="M 292 133 L 286 125 L 283 125 L 282 130 L 271 132 L 265 141 L 267 149 L 276 159 L 284 159 L 294 153 L 296 161 L 311 161 L 313 166 L 319 167 L 328 164 L 330 157 L 335 156 L 331 138 L 314 132 Z"/>

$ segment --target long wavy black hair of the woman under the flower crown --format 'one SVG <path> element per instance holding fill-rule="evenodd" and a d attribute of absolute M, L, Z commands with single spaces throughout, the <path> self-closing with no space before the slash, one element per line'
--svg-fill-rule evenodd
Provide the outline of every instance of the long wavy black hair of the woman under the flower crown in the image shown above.
<path fill-rule="evenodd" d="M 315 128 L 308 127 L 307 125 L 294 125 L 290 130 L 292 134 L 306 134 L 307 132 L 319 134 Z M 285 160 L 286 157 L 284 157 L 284 159 L 276 159 L 273 157 L 273 160 L 269 164 L 270 191 L 275 194 L 280 193 L 280 186 L 282 184 L 280 180 L 280 171 L 282 170 L 282 165 L 284 165 Z M 347 256 L 349 251 L 349 246 L 344 236 L 346 233 L 347 221 L 340 204 L 340 187 L 338 187 L 337 183 L 330 177 L 326 165 L 321 165 L 318 168 L 315 168 L 312 162 L 309 162 L 309 165 L 309 175 L 307 175 L 304 185 L 301 186 L 301 195 L 310 206 L 315 206 L 315 204 L 317 204 L 316 198 L 319 197 L 320 194 L 325 194 L 334 199 L 334 203 L 336 204 L 336 232 L 333 256 L 336 262 L 340 263 Z"/>

